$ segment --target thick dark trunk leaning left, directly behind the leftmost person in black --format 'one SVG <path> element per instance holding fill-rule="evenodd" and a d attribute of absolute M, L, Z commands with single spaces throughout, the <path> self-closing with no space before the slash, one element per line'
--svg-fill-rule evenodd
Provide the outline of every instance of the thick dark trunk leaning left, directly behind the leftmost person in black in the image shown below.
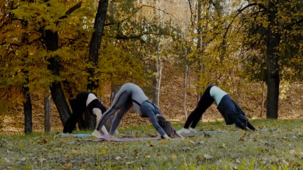
<path fill-rule="evenodd" d="M 58 33 L 53 32 L 51 30 L 45 30 L 43 40 L 45 42 L 46 48 L 49 51 L 58 50 Z M 52 56 L 47 60 L 49 64 L 47 65 L 47 69 L 52 72 L 54 76 L 60 76 L 60 63 L 58 56 Z M 68 107 L 67 101 L 64 96 L 63 89 L 61 87 L 60 82 L 53 82 L 50 85 L 51 96 L 53 101 L 58 109 L 60 119 L 62 124 L 67 121 L 67 119 L 71 115 L 71 111 Z"/>

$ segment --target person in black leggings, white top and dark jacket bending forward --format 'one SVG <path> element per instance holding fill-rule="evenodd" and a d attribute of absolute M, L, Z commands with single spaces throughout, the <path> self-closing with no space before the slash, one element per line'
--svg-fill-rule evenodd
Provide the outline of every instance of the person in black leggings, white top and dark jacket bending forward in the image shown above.
<path fill-rule="evenodd" d="M 235 123 L 236 126 L 243 130 L 247 130 L 246 127 L 251 130 L 255 130 L 255 127 L 247 120 L 245 113 L 242 111 L 239 105 L 232 100 L 230 95 L 219 87 L 210 85 L 205 89 L 197 107 L 190 113 L 183 128 L 178 132 L 196 133 L 197 131 L 195 130 L 195 127 L 202 117 L 202 114 L 214 101 L 216 102 L 218 106 L 217 109 L 224 117 L 227 125 Z"/>

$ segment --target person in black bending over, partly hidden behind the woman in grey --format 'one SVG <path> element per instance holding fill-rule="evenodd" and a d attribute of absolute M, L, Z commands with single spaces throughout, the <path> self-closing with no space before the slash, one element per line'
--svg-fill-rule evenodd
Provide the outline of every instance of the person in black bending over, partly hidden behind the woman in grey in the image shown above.
<path fill-rule="evenodd" d="M 102 113 L 106 111 L 106 108 L 101 104 L 96 95 L 88 91 L 82 91 L 77 94 L 76 98 L 71 100 L 70 105 L 73 113 L 71 117 L 65 122 L 63 133 L 73 132 L 73 130 L 76 128 L 78 118 L 83 115 L 83 112 L 86 109 L 88 109 L 91 114 L 97 116 L 98 122 L 102 117 Z M 104 133 L 107 133 L 106 129 L 104 129 L 102 131 L 104 131 Z"/>

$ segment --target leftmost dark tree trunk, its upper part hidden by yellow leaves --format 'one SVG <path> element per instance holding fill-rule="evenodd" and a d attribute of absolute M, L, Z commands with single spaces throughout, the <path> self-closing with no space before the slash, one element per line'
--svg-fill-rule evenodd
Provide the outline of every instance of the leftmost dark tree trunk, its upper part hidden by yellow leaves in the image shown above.
<path fill-rule="evenodd" d="M 32 108 L 28 85 L 28 71 L 23 71 L 25 81 L 22 85 L 22 93 L 24 95 L 23 111 L 24 111 L 24 133 L 32 133 Z"/>

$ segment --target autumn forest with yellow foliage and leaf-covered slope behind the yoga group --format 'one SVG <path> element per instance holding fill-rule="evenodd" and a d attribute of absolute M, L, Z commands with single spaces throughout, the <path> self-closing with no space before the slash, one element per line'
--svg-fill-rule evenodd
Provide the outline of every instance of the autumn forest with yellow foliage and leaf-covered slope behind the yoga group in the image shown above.
<path fill-rule="evenodd" d="M 301 119 L 302 29 L 301 0 L 2 0 L 0 134 L 43 131 L 45 113 L 61 131 L 78 92 L 109 107 L 127 82 L 172 121 L 208 85 L 250 119 Z M 95 127 L 83 119 L 80 129 Z M 222 117 L 213 105 L 202 120 Z"/>

